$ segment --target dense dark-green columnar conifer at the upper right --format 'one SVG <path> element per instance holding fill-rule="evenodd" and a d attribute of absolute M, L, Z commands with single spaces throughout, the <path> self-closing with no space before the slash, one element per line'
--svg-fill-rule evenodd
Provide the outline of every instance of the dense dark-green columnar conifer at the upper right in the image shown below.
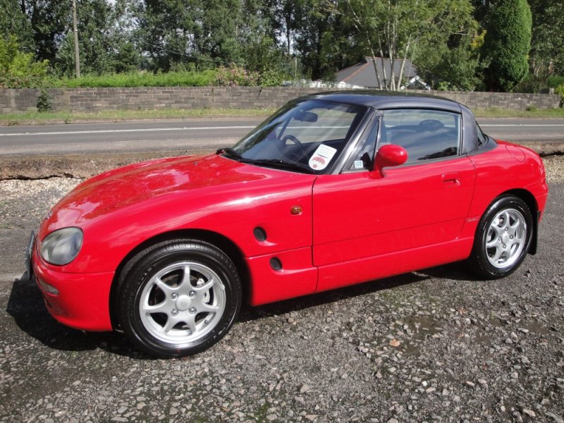
<path fill-rule="evenodd" d="M 482 58 L 490 91 L 510 91 L 529 71 L 531 10 L 527 0 L 498 0 L 491 8 Z"/>

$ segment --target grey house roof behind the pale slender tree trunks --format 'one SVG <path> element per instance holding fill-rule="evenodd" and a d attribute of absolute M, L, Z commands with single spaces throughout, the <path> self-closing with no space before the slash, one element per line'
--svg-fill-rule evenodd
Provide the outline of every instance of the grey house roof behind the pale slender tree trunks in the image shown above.
<path fill-rule="evenodd" d="M 396 59 L 393 61 L 393 71 L 396 78 L 400 73 L 401 63 L 403 59 Z M 384 63 L 384 67 L 382 66 Z M 384 70 L 386 69 L 386 82 L 389 80 L 391 75 L 390 59 L 381 59 L 376 57 L 376 69 L 378 70 L 378 76 L 384 85 Z M 403 67 L 403 76 L 406 79 L 413 78 L 417 75 L 417 67 L 413 66 L 409 59 L 405 60 L 405 65 Z M 342 69 L 336 73 L 336 82 L 347 82 L 352 85 L 360 85 L 361 87 L 375 87 L 379 88 L 378 80 L 376 78 L 376 72 L 374 71 L 374 60 L 372 57 L 364 57 L 364 61 L 357 63 L 356 65 L 350 66 L 348 68 Z"/>

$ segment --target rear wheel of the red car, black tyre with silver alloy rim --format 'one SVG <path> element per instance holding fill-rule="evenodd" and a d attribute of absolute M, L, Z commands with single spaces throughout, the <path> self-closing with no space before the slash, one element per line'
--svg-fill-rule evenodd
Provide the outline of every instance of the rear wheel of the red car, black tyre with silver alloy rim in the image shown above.
<path fill-rule="evenodd" d="M 470 269 L 486 279 L 512 274 L 527 256 L 532 231 L 532 214 L 523 200 L 515 195 L 496 198 L 478 223 Z"/>

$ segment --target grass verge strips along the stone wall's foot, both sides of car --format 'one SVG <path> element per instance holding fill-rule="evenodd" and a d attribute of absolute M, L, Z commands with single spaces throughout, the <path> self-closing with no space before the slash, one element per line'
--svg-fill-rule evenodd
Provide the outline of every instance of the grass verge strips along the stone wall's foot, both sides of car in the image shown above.
<path fill-rule="evenodd" d="M 41 125 L 46 123 L 75 123 L 82 121 L 135 121 L 190 118 L 252 118 L 273 114 L 276 109 L 154 109 L 106 110 L 97 112 L 23 112 L 0 115 L 0 125 Z M 564 118 L 564 109 L 504 110 L 484 109 L 474 111 L 478 118 Z"/>

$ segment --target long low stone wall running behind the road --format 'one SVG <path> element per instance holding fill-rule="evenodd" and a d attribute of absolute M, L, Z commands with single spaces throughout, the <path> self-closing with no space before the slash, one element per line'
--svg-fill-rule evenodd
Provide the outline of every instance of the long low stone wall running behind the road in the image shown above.
<path fill-rule="evenodd" d="M 294 87 L 138 87 L 51 89 L 54 110 L 100 111 L 191 108 L 262 109 L 278 107 L 306 94 L 334 91 L 331 88 Z M 560 104 L 557 94 L 519 94 L 464 91 L 422 91 L 466 104 L 470 109 L 553 109 Z M 35 111 L 39 90 L 0 90 L 0 112 Z"/>

